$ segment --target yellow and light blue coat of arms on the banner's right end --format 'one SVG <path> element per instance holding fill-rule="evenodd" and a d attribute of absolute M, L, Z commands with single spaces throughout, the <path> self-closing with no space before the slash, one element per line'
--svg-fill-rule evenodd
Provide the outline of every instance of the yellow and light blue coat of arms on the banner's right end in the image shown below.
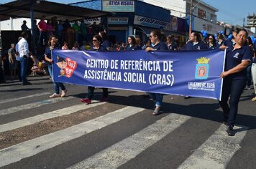
<path fill-rule="evenodd" d="M 195 78 L 196 79 L 207 79 L 209 74 L 209 58 L 201 57 L 200 59 L 196 59 L 196 73 Z"/>

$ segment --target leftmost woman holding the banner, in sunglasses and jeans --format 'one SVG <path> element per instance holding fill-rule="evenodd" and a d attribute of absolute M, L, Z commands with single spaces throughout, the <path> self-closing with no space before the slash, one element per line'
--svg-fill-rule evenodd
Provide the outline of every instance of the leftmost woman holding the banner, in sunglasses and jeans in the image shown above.
<path fill-rule="evenodd" d="M 57 37 L 54 35 L 50 36 L 48 40 L 48 47 L 45 49 L 45 61 L 48 63 L 48 71 L 50 74 L 50 77 L 52 78 L 52 50 L 53 49 L 58 49 L 57 47 Z M 67 90 L 65 89 L 65 86 L 63 83 L 60 82 L 54 82 L 54 87 L 55 87 L 55 93 L 53 95 L 50 95 L 50 98 L 54 97 L 65 97 L 67 94 Z M 60 95 L 60 88 L 61 88 L 61 95 Z"/>

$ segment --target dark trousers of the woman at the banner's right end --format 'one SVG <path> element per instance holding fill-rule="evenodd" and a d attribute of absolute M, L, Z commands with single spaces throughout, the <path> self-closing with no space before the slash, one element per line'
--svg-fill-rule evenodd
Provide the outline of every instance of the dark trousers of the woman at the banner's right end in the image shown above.
<path fill-rule="evenodd" d="M 229 126 L 234 126 L 234 121 L 237 117 L 239 99 L 245 85 L 246 79 L 235 80 L 228 77 L 224 79 L 221 101 L 219 101 L 219 105 L 221 106 L 224 115 L 229 116 L 229 119 L 227 120 L 227 125 Z M 229 105 L 227 104 L 228 100 Z"/>

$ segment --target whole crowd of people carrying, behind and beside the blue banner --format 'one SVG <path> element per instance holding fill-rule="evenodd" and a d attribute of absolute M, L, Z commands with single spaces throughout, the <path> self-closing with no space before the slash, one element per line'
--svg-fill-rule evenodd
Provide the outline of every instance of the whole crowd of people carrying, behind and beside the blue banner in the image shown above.
<path fill-rule="evenodd" d="M 42 22 L 44 22 L 43 17 L 41 21 L 37 24 L 37 27 L 40 31 L 38 42 L 44 43 L 44 39 L 46 39 L 45 37 L 47 37 L 48 39 L 43 59 L 47 63 L 48 72 L 50 74 L 50 77 L 52 77 L 51 51 L 54 49 L 68 50 L 70 49 L 70 47 L 67 42 L 62 43 L 61 40 L 59 40 L 62 38 L 60 32 L 58 32 L 60 30 L 58 25 L 61 22 L 55 23 L 55 21 L 47 21 L 48 24 L 52 23 L 52 27 L 47 26 L 47 23 L 42 24 Z M 65 24 L 65 27 L 68 27 L 68 21 L 65 21 Z M 62 24 L 62 26 L 63 29 L 65 29 L 64 24 Z M 224 34 L 221 33 L 216 34 L 216 37 L 213 35 L 203 37 L 200 32 L 192 32 L 189 36 L 188 42 L 182 43 L 184 45 L 181 46 L 180 44 L 178 44 L 178 42 L 175 42 L 173 36 L 169 35 L 166 37 L 165 34 L 160 32 L 160 30 L 152 30 L 152 32 L 150 32 L 149 39 L 147 39 L 147 41 L 145 41 L 144 43 L 142 43 L 140 37 L 134 37 L 131 35 L 128 37 L 127 43 L 116 42 L 116 44 L 111 44 L 109 42 L 104 26 L 102 26 L 101 29 L 99 29 L 99 26 L 94 26 L 95 29 L 92 26 L 92 30 L 95 31 L 92 31 L 92 37 L 89 37 L 88 34 L 85 33 L 88 32 L 88 30 L 84 32 L 81 27 L 83 27 L 83 22 L 81 22 L 80 25 L 78 25 L 78 22 L 75 22 L 73 24 L 73 29 L 75 29 L 76 32 L 76 42 L 71 48 L 73 50 L 145 50 L 146 52 L 150 52 L 156 50 L 168 51 L 227 49 L 225 69 L 224 72 L 220 74 L 220 77 L 224 78 L 224 84 L 222 89 L 221 101 L 219 101 L 219 105 L 224 111 L 223 121 L 225 124 L 227 124 L 227 135 L 234 135 L 233 127 L 237 115 L 239 97 L 242 95 L 242 91 L 244 89 L 250 89 L 252 81 L 253 87 L 255 89 L 255 97 L 252 98 L 252 101 L 256 101 L 256 45 L 252 44 L 252 40 L 248 36 L 248 33 L 245 29 L 233 29 L 231 39 L 226 39 Z M 82 32 L 85 34 L 82 34 Z M 83 40 L 82 45 L 80 45 L 79 39 Z M 90 39 L 92 40 L 91 42 Z M 16 75 L 15 70 L 19 66 L 19 74 L 20 79 L 22 80 L 22 84 L 30 85 L 31 83 L 27 82 L 26 72 L 28 62 L 27 60 L 32 54 L 29 52 L 28 48 L 27 32 L 22 32 L 22 36 L 20 37 L 19 42 L 16 45 L 11 44 L 11 48 L 9 49 L 8 54 L 11 76 L 14 77 Z M 53 83 L 54 93 L 50 95 L 50 97 L 65 97 L 65 95 L 67 94 L 67 90 L 65 89 L 64 84 L 59 82 Z M 62 90 L 61 92 L 60 89 Z M 86 98 L 81 99 L 81 102 L 90 104 L 93 97 L 94 89 L 95 87 L 88 87 L 88 93 L 86 95 Z M 102 90 L 102 101 L 109 100 L 108 89 L 103 88 Z M 152 115 L 159 115 L 160 108 L 163 102 L 163 95 L 158 93 L 147 93 L 147 95 L 149 95 L 152 100 L 155 101 L 155 110 L 152 112 Z M 186 98 L 189 98 L 189 96 L 187 96 Z M 228 101 L 229 104 L 227 103 Z"/>

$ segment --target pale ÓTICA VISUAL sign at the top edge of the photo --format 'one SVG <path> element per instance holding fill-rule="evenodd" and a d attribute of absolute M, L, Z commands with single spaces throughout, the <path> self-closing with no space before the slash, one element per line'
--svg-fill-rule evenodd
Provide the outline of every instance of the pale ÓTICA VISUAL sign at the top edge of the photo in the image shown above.
<path fill-rule="evenodd" d="M 103 11 L 134 12 L 134 1 L 102 1 Z"/>

